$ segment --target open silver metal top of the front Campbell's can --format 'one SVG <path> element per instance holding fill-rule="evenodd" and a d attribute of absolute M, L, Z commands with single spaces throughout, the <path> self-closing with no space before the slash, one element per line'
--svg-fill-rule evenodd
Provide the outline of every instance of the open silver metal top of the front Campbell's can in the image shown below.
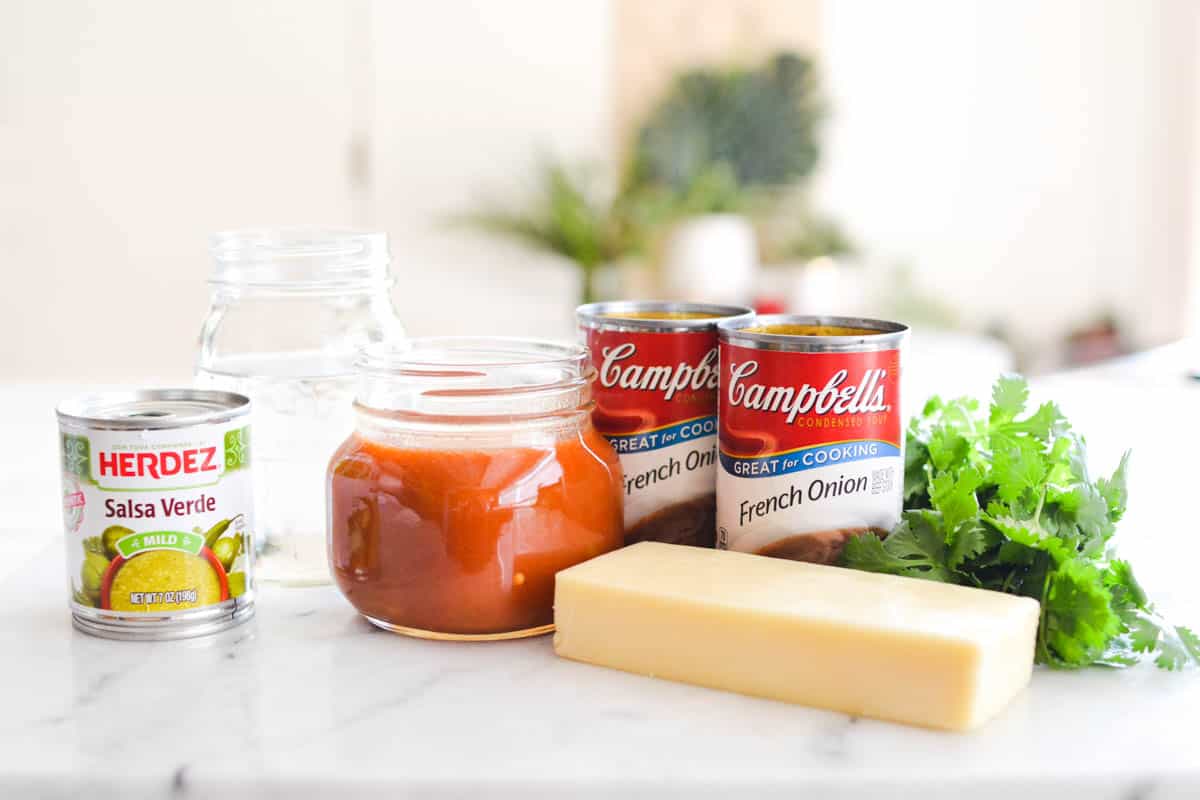
<path fill-rule="evenodd" d="M 772 327 L 829 327 L 851 332 L 793 333 L 772 332 Z M 866 317 L 805 317 L 764 314 L 751 320 L 728 320 L 719 326 L 721 342 L 757 350 L 796 350 L 800 353 L 862 353 L 892 350 L 908 336 L 908 326 Z"/>

